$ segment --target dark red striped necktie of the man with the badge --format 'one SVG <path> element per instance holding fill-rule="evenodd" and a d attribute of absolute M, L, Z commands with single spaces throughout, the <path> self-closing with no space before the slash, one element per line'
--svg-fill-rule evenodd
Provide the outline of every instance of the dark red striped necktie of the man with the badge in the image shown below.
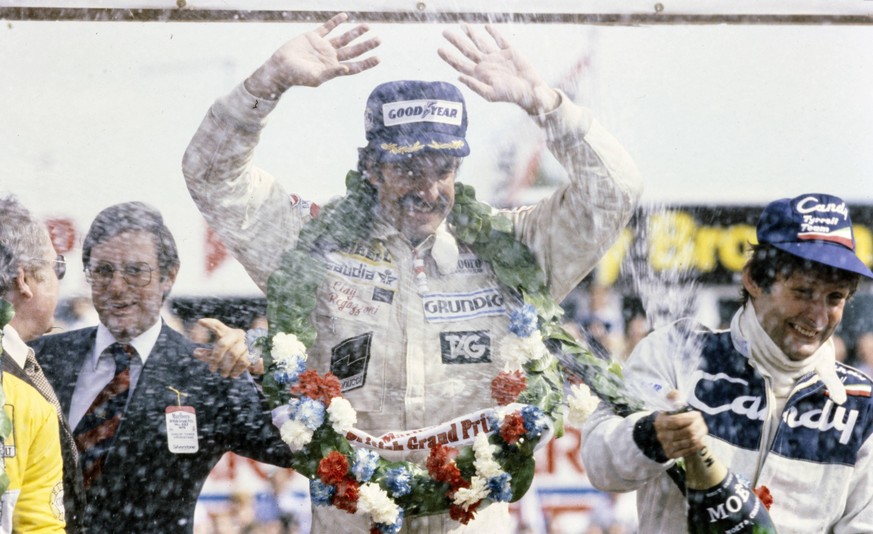
<path fill-rule="evenodd" d="M 121 424 L 130 391 L 130 358 L 136 355 L 136 351 L 130 345 L 115 343 L 103 351 L 103 355 L 115 360 L 115 376 L 97 394 L 73 431 L 85 488 L 91 487 L 94 479 L 100 476 L 115 431 Z"/>

